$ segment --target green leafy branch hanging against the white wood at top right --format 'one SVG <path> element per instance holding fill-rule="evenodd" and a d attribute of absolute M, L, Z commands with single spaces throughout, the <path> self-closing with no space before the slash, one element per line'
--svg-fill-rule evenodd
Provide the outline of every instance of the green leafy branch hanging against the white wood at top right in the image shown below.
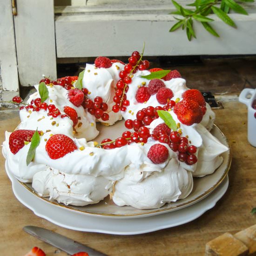
<path fill-rule="evenodd" d="M 254 2 L 254 0 L 240 0 L 243 2 Z M 248 15 L 247 11 L 239 5 L 234 0 L 195 0 L 194 3 L 188 4 L 187 6 L 195 7 L 194 10 L 186 9 L 179 5 L 175 0 L 172 0 L 176 11 L 170 14 L 181 15 L 184 18 L 180 19 L 174 17 L 178 20 L 169 30 L 169 32 L 174 32 L 178 28 L 182 27 L 182 30 L 186 30 L 187 37 L 189 41 L 195 36 L 195 30 L 193 28 L 193 21 L 201 22 L 202 26 L 212 35 L 220 37 L 216 30 L 209 24 L 209 22 L 214 21 L 207 16 L 211 13 L 215 13 L 221 20 L 231 27 L 236 28 L 235 22 L 229 17 L 228 13 L 230 9 L 236 13 Z"/>

